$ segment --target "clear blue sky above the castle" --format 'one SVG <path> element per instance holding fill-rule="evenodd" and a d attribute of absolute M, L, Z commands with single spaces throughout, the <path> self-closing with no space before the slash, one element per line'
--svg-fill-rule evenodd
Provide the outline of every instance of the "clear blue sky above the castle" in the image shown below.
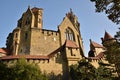
<path fill-rule="evenodd" d="M 94 3 L 89 0 L 1 0 L 0 2 L 0 47 L 5 47 L 6 38 L 17 26 L 17 20 L 30 7 L 44 9 L 43 28 L 57 30 L 65 14 L 72 8 L 80 22 L 85 55 L 89 51 L 89 39 L 101 44 L 105 30 L 112 36 L 119 25 L 112 23 L 104 13 L 95 13 Z"/>

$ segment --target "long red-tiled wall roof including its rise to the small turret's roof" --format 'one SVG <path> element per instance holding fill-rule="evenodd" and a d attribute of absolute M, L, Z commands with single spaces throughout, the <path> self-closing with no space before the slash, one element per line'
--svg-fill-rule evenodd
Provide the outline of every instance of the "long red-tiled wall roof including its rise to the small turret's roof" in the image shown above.
<path fill-rule="evenodd" d="M 11 55 L 11 56 L 4 56 L 1 57 L 0 60 L 11 60 L 11 59 L 18 59 L 18 58 L 26 58 L 26 59 L 50 59 L 51 57 L 53 57 L 56 53 L 60 52 L 61 50 L 63 50 L 64 47 L 72 47 L 72 48 L 78 48 L 78 46 L 75 44 L 75 42 L 67 40 L 66 43 L 59 47 L 58 49 L 56 49 L 55 51 L 53 51 L 52 53 L 50 53 L 47 56 L 42 56 L 42 55 Z"/>

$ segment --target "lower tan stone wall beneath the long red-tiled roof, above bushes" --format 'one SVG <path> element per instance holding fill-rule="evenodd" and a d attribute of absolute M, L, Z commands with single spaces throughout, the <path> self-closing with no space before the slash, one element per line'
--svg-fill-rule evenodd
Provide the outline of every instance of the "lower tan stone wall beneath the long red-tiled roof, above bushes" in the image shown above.
<path fill-rule="evenodd" d="M 12 66 L 18 61 L 18 59 L 10 59 L 10 60 L 4 60 L 4 63 L 8 64 L 8 66 Z M 51 59 L 26 59 L 26 61 L 30 64 L 37 64 L 40 68 L 40 70 L 43 73 L 51 74 L 54 73 L 54 76 L 62 76 L 62 64 L 56 63 L 56 57 L 53 57 Z"/>

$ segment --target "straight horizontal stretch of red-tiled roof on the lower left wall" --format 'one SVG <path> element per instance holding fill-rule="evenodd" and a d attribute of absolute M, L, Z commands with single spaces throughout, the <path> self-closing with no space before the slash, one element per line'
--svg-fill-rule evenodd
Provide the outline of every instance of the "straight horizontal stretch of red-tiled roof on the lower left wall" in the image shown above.
<path fill-rule="evenodd" d="M 40 56 L 40 55 L 11 55 L 1 57 L 0 60 L 10 60 L 10 59 L 18 59 L 18 58 L 26 58 L 26 59 L 49 59 L 48 56 Z"/>

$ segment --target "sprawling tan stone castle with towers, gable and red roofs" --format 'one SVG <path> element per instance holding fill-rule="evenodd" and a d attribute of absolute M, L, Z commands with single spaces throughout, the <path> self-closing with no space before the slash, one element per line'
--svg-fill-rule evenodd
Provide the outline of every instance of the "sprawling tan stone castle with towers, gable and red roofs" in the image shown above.
<path fill-rule="evenodd" d="M 105 32 L 103 42 L 108 40 L 113 37 Z M 38 64 L 42 72 L 62 76 L 62 80 L 68 80 L 70 65 L 85 58 L 80 23 L 71 9 L 54 31 L 43 29 L 42 8 L 28 7 L 17 27 L 8 35 L 6 45 L 6 48 L 0 48 L 0 60 L 11 64 L 24 57 L 28 62 Z M 99 60 L 105 61 L 104 51 L 104 46 L 90 40 L 87 59 L 98 67 Z"/>

